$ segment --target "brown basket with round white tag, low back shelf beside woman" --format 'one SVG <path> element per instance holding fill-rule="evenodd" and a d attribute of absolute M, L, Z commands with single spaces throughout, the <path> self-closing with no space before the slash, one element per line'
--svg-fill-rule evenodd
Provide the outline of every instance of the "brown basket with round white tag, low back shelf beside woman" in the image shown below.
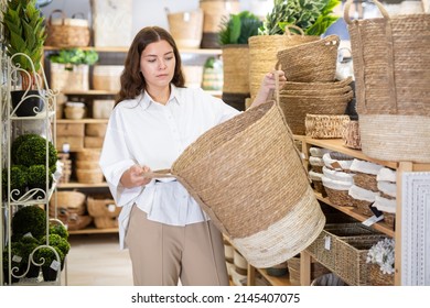
<path fill-rule="evenodd" d="M 88 213 L 94 218 L 94 224 L 98 229 L 117 228 L 118 216 L 121 211 L 117 207 L 115 200 L 107 197 L 88 197 L 87 199 Z"/>

